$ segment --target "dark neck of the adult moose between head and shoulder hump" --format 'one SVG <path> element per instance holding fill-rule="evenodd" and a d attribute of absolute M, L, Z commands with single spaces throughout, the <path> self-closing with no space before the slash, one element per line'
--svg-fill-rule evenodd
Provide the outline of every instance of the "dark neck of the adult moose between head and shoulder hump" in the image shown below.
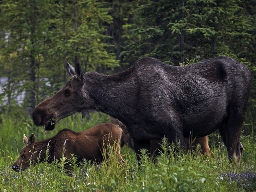
<path fill-rule="evenodd" d="M 131 68 L 114 75 L 86 73 L 88 94 L 92 101 L 89 109 L 104 112 L 119 120 L 124 119 L 128 115 L 126 109 L 131 109 L 131 100 L 136 90 L 131 73 Z"/>

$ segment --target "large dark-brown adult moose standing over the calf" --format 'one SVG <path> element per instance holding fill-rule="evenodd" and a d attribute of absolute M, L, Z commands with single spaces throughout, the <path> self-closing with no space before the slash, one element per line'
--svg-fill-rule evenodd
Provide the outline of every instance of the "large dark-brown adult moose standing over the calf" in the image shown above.
<path fill-rule="evenodd" d="M 65 66 L 72 78 L 34 109 L 36 125 L 52 130 L 76 112 L 101 111 L 127 126 L 136 153 L 149 150 L 151 139 L 166 136 L 186 148 L 184 137 L 203 137 L 219 129 L 229 159 L 240 161 L 252 75 L 235 59 L 220 56 L 175 67 L 146 57 L 113 75 L 84 74 L 79 61 L 75 68 L 67 61 Z"/>

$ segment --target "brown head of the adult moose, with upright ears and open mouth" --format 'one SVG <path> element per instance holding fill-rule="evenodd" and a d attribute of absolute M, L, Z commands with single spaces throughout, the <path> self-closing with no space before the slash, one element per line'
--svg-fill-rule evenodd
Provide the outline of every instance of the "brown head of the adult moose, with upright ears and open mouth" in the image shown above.
<path fill-rule="evenodd" d="M 71 79 L 52 97 L 41 102 L 33 111 L 33 120 L 37 126 L 52 130 L 55 124 L 76 112 L 81 112 L 88 93 L 83 90 L 85 78 L 79 60 L 72 67 L 65 60 L 65 67 Z"/>

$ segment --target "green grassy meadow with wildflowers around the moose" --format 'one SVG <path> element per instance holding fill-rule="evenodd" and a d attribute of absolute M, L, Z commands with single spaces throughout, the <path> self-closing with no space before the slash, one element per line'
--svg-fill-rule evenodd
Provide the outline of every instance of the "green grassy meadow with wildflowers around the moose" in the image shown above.
<path fill-rule="evenodd" d="M 253 133 L 241 136 L 244 146 L 240 166 L 229 163 L 227 149 L 218 133 L 209 136 L 209 145 L 214 157 L 199 155 L 195 151 L 173 152 L 173 146 L 164 144 L 158 157 L 158 165 L 142 150 L 141 165 L 138 166 L 135 153 L 123 147 L 121 154 L 125 164 L 117 162 L 115 153 L 100 165 L 84 162 L 74 164 L 72 176 L 63 168 L 68 162 L 65 157 L 53 164 L 39 163 L 23 172 L 16 173 L 12 164 L 17 159 L 23 143 L 23 134 L 35 133 L 36 141 L 54 136 L 63 128 L 75 132 L 83 131 L 99 123 L 109 122 L 105 114 L 91 114 L 81 122 L 81 115 L 75 114 L 62 119 L 53 131 L 41 131 L 31 120 L 10 118 L 2 115 L 0 124 L 0 191 L 256 191 L 256 146 Z"/>

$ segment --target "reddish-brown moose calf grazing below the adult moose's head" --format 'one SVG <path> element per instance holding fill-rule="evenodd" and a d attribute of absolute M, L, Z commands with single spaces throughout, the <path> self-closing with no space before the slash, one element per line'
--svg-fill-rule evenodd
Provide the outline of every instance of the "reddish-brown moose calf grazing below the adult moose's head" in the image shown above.
<path fill-rule="evenodd" d="M 19 158 L 13 164 L 16 172 L 24 170 L 30 166 L 30 162 L 36 164 L 46 161 L 46 150 L 49 150 L 47 163 L 52 163 L 55 159 L 64 156 L 70 159 L 73 153 L 78 157 L 77 162 L 83 159 L 100 163 L 104 159 L 103 151 L 108 154 L 109 149 L 115 149 L 119 156 L 119 161 L 124 162 L 120 154 L 120 139 L 122 129 L 112 123 L 102 123 L 82 132 L 73 132 L 70 129 L 62 129 L 56 136 L 35 141 L 35 135 L 31 134 L 28 138 L 24 134 L 25 147 L 22 148 Z M 109 148 L 108 145 L 112 147 Z M 108 158 L 108 157 L 107 157 Z"/>

